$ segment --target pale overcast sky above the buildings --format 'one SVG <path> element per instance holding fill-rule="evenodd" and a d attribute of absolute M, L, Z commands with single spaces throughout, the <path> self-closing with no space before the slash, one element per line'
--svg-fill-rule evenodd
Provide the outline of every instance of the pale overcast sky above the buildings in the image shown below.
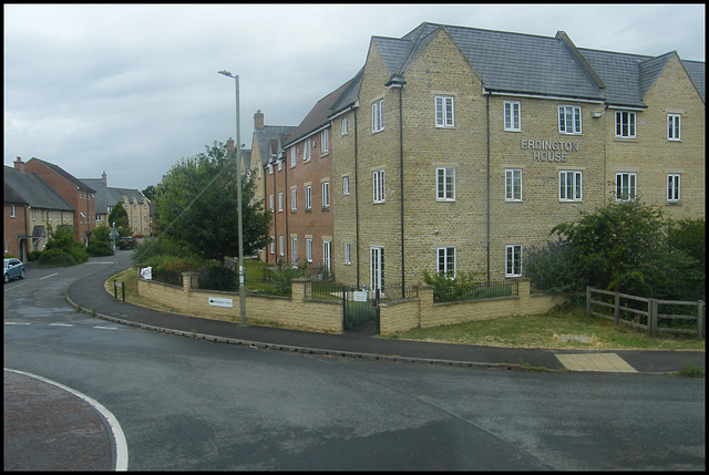
<path fill-rule="evenodd" d="M 144 189 L 236 137 L 254 113 L 298 125 L 364 64 L 371 37 L 424 21 L 554 37 L 578 48 L 705 61 L 703 4 L 4 4 L 4 165 L 42 158 Z"/>

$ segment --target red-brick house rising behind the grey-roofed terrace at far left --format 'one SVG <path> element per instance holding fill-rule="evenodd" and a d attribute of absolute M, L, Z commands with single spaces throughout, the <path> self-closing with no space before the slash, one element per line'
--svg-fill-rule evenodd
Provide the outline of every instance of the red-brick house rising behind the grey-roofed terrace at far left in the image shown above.
<path fill-rule="evenodd" d="M 73 226 L 75 239 L 84 245 L 88 244 L 91 239 L 91 234 L 96 227 L 96 190 L 60 166 L 39 158 L 32 157 L 25 164 L 21 164 L 21 158 L 18 157 L 16 167 L 18 166 L 41 176 L 49 186 L 72 206 L 73 216 L 71 218 L 62 217 L 61 224 Z"/>

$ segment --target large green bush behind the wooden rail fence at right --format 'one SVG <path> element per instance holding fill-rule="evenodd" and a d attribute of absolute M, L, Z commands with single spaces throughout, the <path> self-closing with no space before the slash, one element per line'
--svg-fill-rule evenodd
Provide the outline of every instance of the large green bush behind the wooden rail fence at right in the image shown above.
<path fill-rule="evenodd" d="M 555 226 L 551 234 L 558 235 L 558 242 L 530 252 L 525 275 L 536 283 L 554 282 L 555 290 L 592 285 L 643 297 L 685 298 L 699 288 L 703 292 L 703 219 L 674 223 L 660 207 L 639 199 L 612 202 L 575 223 Z"/>

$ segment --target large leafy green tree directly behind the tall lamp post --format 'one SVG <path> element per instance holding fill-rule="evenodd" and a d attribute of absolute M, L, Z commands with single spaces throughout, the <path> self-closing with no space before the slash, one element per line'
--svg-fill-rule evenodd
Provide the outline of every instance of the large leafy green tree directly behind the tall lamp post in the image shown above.
<path fill-rule="evenodd" d="M 236 173 L 234 154 L 217 142 L 206 153 L 173 165 L 155 188 L 158 234 L 186 242 L 205 260 L 238 255 Z M 244 255 L 250 255 L 270 240 L 270 211 L 254 199 L 254 179 L 242 182 Z"/>

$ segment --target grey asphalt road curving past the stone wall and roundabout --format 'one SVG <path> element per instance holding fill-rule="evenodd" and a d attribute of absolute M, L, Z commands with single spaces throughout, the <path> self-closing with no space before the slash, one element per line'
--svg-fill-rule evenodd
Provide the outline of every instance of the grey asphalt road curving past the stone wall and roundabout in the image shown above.
<path fill-rule="evenodd" d="M 129 469 L 705 469 L 703 380 L 193 341 L 63 300 L 69 283 L 110 265 L 32 269 L 6 286 L 4 366 L 110 410 Z"/>

